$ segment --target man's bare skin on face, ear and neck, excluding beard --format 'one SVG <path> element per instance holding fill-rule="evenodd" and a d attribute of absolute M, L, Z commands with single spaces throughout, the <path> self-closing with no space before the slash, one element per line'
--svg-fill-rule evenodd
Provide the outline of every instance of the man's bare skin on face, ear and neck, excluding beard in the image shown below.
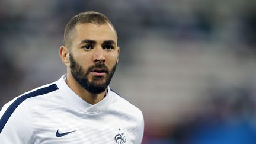
<path fill-rule="evenodd" d="M 101 73 L 103 75 L 98 76 L 94 72 L 88 73 L 88 68 L 102 64 L 108 70 L 111 70 L 118 63 L 120 49 L 117 46 L 116 31 L 108 23 L 102 25 L 93 23 L 76 24 L 72 37 L 71 49 L 61 46 L 59 50 L 62 62 L 67 67 L 66 83 L 72 91 L 87 103 L 96 104 L 104 98 L 106 89 L 94 94 L 82 87 L 72 76 L 70 56 L 72 55 L 76 64 L 81 66 L 82 72 L 87 73 L 89 82 L 94 82 L 95 85 L 103 84 L 107 81 L 107 73 Z"/>

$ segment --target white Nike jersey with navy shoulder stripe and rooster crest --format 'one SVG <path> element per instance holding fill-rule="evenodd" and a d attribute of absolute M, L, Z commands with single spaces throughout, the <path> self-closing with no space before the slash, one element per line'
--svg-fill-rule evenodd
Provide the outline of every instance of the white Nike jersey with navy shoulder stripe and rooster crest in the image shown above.
<path fill-rule="evenodd" d="M 108 87 L 91 105 L 66 85 L 66 75 L 29 91 L 0 111 L 0 143 L 128 144 L 142 142 L 142 112 Z"/>

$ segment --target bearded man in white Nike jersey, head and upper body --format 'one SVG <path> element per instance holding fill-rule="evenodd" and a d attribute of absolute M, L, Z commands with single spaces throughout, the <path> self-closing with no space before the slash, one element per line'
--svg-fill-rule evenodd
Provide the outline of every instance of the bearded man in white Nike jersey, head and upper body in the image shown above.
<path fill-rule="evenodd" d="M 67 74 L 4 105 L 0 143 L 141 143 L 142 112 L 108 86 L 119 50 L 105 15 L 73 17 L 59 51 Z"/>

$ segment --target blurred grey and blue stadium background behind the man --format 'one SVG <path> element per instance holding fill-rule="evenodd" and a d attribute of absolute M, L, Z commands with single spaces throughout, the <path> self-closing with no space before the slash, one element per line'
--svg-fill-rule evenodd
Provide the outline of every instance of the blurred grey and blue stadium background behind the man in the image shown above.
<path fill-rule="evenodd" d="M 117 29 L 111 86 L 143 111 L 143 143 L 256 142 L 253 0 L 1 0 L 0 108 L 65 73 L 63 30 L 84 11 Z"/>

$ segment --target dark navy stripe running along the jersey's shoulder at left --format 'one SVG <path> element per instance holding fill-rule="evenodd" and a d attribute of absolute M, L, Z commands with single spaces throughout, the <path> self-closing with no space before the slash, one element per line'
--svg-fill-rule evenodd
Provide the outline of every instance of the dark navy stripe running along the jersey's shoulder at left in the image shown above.
<path fill-rule="evenodd" d="M 17 98 L 11 105 L 9 105 L 2 118 L 0 119 L 0 133 L 2 132 L 2 129 L 4 129 L 4 126 L 9 120 L 9 117 L 11 117 L 12 113 L 15 111 L 18 105 L 20 105 L 24 100 L 27 98 L 36 97 L 38 95 L 47 94 L 49 92 L 56 91 L 57 89 L 59 89 L 57 85 L 52 84 L 48 87 L 37 89 L 36 91 L 30 92 Z"/>

